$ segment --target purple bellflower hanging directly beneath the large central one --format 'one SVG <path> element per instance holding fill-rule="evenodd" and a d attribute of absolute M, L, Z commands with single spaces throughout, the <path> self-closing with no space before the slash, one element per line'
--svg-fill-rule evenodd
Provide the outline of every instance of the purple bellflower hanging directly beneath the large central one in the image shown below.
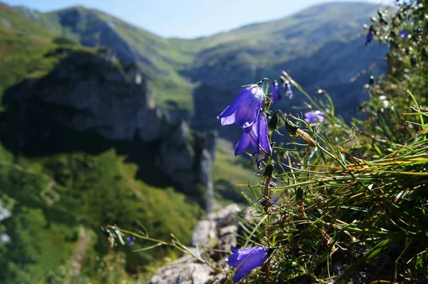
<path fill-rule="evenodd" d="M 251 146 L 255 151 L 252 163 L 257 163 L 258 168 L 260 168 L 260 164 L 266 154 L 272 153 L 272 147 L 270 146 L 267 133 L 267 120 L 262 111 L 259 111 L 251 127 L 243 128 L 243 135 L 235 146 L 235 156 L 244 153 L 248 146 Z"/>

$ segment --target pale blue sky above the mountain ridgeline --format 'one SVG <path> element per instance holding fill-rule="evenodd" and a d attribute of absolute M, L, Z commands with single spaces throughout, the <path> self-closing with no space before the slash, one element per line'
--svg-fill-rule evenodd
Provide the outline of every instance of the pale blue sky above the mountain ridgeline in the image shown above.
<path fill-rule="evenodd" d="M 2 0 L 0 0 L 2 1 Z M 355 0 L 342 0 L 355 1 Z M 367 1 L 367 0 L 366 0 Z M 329 0 L 6 0 L 42 12 L 86 6 L 118 17 L 159 36 L 195 38 L 245 24 L 270 21 Z M 370 2 L 390 3 L 391 0 Z"/>

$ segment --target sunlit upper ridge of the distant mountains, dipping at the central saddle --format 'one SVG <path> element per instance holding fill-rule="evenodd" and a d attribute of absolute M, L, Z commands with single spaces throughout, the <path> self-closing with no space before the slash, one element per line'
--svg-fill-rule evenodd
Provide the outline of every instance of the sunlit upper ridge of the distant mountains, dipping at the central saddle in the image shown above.
<path fill-rule="evenodd" d="M 197 39 L 165 39 L 103 11 L 83 6 L 39 13 L 39 22 L 45 26 L 51 25 L 51 29 L 61 32 L 62 36 L 80 41 L 80 44 L 111 46 L 121 61 L 135 62 L 149 78 L 149 90 L 163 108 L 170 111 L 184 110 L 178 112 L 182 113 L 178 117 L 191 119 L 195 111 L 195 88 L 200 83 L 210 82 L 210 78 L 201 78 L 195 74 L 197 72 L 192 74 L 194 69 L 210 69 L 213 60 L 223 62 L 222 67 L 226 69 L 236 64 L 253 64 L 258 69 L 268 69 L 272 61 L 286 64 L 293 57 L 310 56 L 329 41 L 356 38 L 360 34 L 360 25 L 367 19 L 366 15 L 374 13 L 378 6 L 357 1 L 318 4 L 274 21 L 244 25 Z M 81 30 L 77 30 L 70 22 L 58 28 L 61 19 L 70 17 L 69 14 L 76 16 L 79 13 L 94 14 L 98 19 L 93 21 L 103 23 L 100 24 L 103 28 L 100 26 L 90 31 L 91 27 L 82 22 L 79 23 Z M 302 19 L 305 21 L 302 22 Z M 320 23 L 326 24 L 314 29 L 313 26 Z M 65 29 L 64 26 L 68 28 Z M 74 28 L 76 30 L 73 31 Z M 116 40 L 102 40 L 102 37 L 96 39 L 96 33 L 106 33 L 104 29 L 110 30 L 112 35 L 116 34 Z M 301 46 L 305 46 L 305 49 Z M 228 59 L 228 56 L 237 56 L 237 53 L 240 54 L 237 58 Z M 280 73 L 280 70 L 276 72 Z M 248 73 L 243 74 L 244 78 L 240 79 L 239 86 L 243 81 L 248 81 L 245 76 L 248 77 Z"/>

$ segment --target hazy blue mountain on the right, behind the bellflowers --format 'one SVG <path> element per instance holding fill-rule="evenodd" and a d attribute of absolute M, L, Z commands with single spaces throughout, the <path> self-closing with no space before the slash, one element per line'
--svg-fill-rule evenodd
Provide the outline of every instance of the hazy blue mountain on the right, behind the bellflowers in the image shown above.
<path fill-rule="evenodd" d="M 362 93 L 368 77 L 383 73 L 387 66 L 387 46 L 367 48 L 361 35 L 362 24 L 376 9 L 374 4 L 358 2 L 320 4 L 285 19 L 203 39 L 206 47 L 185 73 L 199 82 L 193 91 L 193 127 L 218 128 L 215 117 L 238 94 L 241 85 L 264 77 L 279 81 L 281 70 L 310 93 L 326 89 L 337 104 L 337 112 L 349 121 L 357 115 L 357 106 L 368 98 Z M 350 82 L 369 67 L 371 70 Z M 277 108 L 293 111 L 292 107 L 303 106 L 304 100 L 295 91 L 292 100 L 282 99 Z M 232 134 L 220 129 L 220 135 Z"/>

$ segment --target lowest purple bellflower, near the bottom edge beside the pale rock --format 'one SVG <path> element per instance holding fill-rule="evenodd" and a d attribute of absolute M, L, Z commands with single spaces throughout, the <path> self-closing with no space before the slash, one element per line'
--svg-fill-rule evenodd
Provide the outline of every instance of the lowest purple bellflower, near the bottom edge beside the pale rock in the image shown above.
<path fill-rule="evenodd" d="M 254 268 L 263 265 L 267 258 L 269 258 L 272 250 L 257 246 L 254 248 L 247 248 L 245 250 L 238 250 L 238 248 L 231 247 L 232 255 L 226 258 L 226 263 L 233 268 L 238 268 L 233 275 L 233 283 L 238 283 L 241 279 L 250 273 Z"/>

